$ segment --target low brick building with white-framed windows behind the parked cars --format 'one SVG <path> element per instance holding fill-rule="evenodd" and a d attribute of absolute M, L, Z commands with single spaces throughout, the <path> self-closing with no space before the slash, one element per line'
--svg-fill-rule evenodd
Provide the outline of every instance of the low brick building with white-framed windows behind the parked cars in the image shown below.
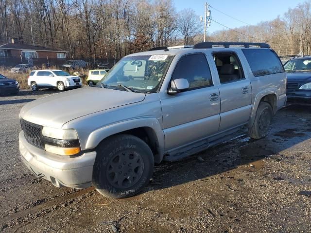
<path fill-rule="evenodd" d="M 42 66 L 62 65 L 66 61 L 66 52 L 42 46 L 27 45 L 22 40 L 12 39 L 12 43 L 0 43 L 0 66 L 13 67 L 17 64 Z"/>

